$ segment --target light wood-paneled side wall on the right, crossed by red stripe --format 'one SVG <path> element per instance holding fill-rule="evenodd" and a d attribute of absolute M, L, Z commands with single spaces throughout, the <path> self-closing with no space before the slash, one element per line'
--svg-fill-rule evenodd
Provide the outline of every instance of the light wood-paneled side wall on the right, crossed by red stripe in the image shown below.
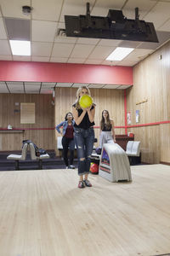
<path fill-rule="evenodd" d="M 138 125 L 136 110 L 139 110 L 138 124 L 170 120 L 170 42 L 133 68 L 133 88 L 127 90 L 127 111 L 132 114 L 132 125 Z M 169 128 L 169 124 L 162 124 L 127 129 L 134 133 L 135 140 L 141 141 L 142 161 L 170 163 Z"/>

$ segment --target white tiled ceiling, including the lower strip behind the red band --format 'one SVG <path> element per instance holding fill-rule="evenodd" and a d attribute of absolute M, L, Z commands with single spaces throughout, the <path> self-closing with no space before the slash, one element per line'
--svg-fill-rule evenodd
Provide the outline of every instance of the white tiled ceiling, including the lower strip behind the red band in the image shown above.
<path fill-rule="evenodd" d="M 139 7 L 139 20 L 154 23 L 159 43 L 67 38 L 65 34 L 58 34 L 59 29 L 65 29 L 64 15 L 86 15 L 87 2 L 90 3 L 91 15 L 106 16 L 109 9 L 122 9 L 127 19 L 134 19 L 134 9 Z M 31 15 L 22 14 L 23 5 L 32 7 Z M 11 54 L 5 18 L 31 20 L 31 56 Z M 0 0 L 0 60 L 4 61 L 46 61 L 133 67 L 169 39 L 170 0 Z M 123 61 L 105 61 L 116 46 L 135 49 Z M 69 86 L 69 84 L 62 85 Z M 42 93 L 55 84 L 18 83 L 15 86 L 16 90 L 18 90 L 17 86 L 21 86 L 25 93 L 34 90 Z M 74 84 L 70 86 L 75 87 Z M 94 86 L 99 88 L 97 84 Z M 105 86 L 107 85 L 102 87 Z M 3 90 L 16 92 L 14 85 L 10 83 L 2 82 L 0 88 L 0 92 Z"/>

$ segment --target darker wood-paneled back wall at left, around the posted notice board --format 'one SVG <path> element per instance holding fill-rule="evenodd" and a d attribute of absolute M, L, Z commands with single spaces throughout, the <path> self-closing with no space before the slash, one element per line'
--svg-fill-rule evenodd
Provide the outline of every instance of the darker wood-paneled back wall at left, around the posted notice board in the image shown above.
<path fill-rule="evenodd" d="M 19 106 L 15 105 L 19 103 Z M 20 103 L 36 103 L 36 123 L 20 124 Z M 54 127 L 54 106 L 52 95 L 0 94 L 0 127 L 7 128 L 52 128 Z M 23 139 L 30 139 L 39 148 L 54 148 L 54 130 L 28 130 L 23 133 L 0 132 L 0 150 L 20 150 Z"/>

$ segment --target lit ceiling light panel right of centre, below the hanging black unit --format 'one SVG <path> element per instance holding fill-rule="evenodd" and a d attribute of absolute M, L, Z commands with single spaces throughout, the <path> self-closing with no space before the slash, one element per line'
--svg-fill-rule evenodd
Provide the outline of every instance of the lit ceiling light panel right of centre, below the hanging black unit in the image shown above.
<path fill-rule="evenodd" d="M 133 48 L 117 47 L 111 55 L 106 58 L 106 61 L 122 61 L 127 55 L 133 51 Z"/>

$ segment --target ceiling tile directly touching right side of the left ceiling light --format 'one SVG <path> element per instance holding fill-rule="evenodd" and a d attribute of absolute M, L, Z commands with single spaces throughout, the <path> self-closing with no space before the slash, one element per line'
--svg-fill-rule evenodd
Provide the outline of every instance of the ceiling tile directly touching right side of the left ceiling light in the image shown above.
<path fill-rule="evenodd" d="M 53 44 L 45 42 L 32 42 L 31 43 L 31 55 L 34 56 L 50 56 Z"/>

